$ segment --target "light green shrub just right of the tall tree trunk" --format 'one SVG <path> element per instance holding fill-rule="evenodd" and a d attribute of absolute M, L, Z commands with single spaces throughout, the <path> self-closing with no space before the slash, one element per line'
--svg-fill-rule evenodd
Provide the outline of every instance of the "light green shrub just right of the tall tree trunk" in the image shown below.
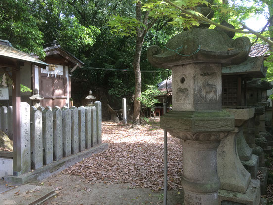
<path fill-rule="evenodd" d="M 159 101 L 154 98 L 157 95 L 162 95 L 162 92 L 153 85 L 147 85 L 147 89 L 141 93 L 138 100 L 141 101 L 144 107 L 153 108 L 155 103 L 159 103 Z"/>

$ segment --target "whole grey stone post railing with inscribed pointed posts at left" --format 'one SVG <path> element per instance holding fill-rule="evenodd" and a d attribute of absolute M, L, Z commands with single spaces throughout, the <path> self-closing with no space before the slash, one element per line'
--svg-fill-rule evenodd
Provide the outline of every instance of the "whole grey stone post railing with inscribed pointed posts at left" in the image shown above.
<path fill-rule="evenodd" d="M 12 107 L 0 108 L 0 129 L 13 139 Z M 100 101 L 78 108 L 35 108 L 21 102 L 21 150 L 17 152 L 22 156 L 22 174 L 99 144 Z"/>

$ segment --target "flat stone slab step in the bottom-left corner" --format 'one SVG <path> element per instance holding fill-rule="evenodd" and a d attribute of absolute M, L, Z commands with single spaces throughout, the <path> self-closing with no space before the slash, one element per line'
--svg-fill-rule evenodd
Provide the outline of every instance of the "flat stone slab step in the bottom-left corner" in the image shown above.
<path fill-rule="evenodd" d="M 45 186 L 24 184 L 1 193 L 0 205 L 38 205 L 55 195 L 55 190 Z"/>

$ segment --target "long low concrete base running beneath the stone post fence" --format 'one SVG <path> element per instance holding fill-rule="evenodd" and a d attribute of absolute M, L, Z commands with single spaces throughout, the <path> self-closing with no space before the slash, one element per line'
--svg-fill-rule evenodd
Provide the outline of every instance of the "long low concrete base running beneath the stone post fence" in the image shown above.
<path fill-rule="evenodd" d="M 53 162 L 49 165 L 43 166 L 33 172 L 28 172 L 20 176 L 4 176 L 4 180 L 7 182 L 26 183 L 33 180 L 45 179 L 59 171 L 66 169 L 69 166 L 74 165 L 76 162 L 80 162 L 83 158 L 90 157 L 92 154 L 100 153 L 108 148 L 108 143 L 102 143 L 96 147 L 92 147 L 88 150 L 82 151 L 77 154 L 62 158 L 59 161 Z"/>

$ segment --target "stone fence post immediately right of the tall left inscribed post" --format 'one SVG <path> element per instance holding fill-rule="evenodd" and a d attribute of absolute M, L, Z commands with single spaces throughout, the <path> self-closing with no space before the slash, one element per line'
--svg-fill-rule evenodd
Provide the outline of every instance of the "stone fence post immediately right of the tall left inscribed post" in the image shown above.
<path fill-rule="evenodd" d="M 31 169 L 43 166 L 42 112 L 32 108 L 30 112 Z"/>

